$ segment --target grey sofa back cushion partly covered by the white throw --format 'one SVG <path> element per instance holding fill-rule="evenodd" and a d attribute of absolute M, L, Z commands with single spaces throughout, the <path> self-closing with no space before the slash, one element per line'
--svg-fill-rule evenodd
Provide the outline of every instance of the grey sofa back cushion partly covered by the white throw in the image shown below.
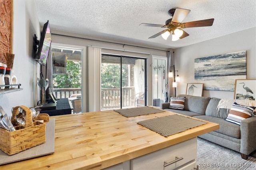
<path fill-rule="evenodd" d="M 219 98 L 211 98 L 206 107 L 205 115 L 226 119 L 228 117 L 229 110 L 223 108 L 220 108 L 219 110 L 217 109 L 220 100 L 221 99 Z"/>

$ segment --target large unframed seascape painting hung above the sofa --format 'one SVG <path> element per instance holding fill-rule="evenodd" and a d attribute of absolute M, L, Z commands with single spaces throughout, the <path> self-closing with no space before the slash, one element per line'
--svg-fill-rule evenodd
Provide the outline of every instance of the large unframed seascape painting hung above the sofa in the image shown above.
<path fill-rule="evenodd" d="M 195 81 L 204 90 L 234 91 L 236 79 L 246 79 L 246 51 L 195 59 Z"/>

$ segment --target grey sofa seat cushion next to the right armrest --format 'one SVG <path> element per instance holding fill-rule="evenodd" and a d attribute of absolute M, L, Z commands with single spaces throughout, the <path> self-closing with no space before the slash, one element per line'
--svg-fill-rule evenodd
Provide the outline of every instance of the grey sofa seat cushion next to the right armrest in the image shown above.
<path fill-rule="evenodd" d="M 207 115 L 200 115 L 200 116 L 194 116 L 194 117 L 198 119 L 218 123 L 220 125 L 220 129 L 215 130 L 218 133 L 222 133 L 224 135 L 228 135 L 230 137 L 234 137 L 238 139 L 240 139 L 241 137 L 240 126 L 235 123 L 231 123 L 222 118 L 212 117 Z"/>

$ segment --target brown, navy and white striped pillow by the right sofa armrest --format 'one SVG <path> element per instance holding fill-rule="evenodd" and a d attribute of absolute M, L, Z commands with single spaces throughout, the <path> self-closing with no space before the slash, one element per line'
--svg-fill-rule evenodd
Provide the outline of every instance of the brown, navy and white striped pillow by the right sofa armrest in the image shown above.
<path fill-rule="evenodd" d="M 253 115 L 255 108 L 253 106 L 242 106 L 234 102 L 226 120 L 240 125 L 242 120 Z"/>

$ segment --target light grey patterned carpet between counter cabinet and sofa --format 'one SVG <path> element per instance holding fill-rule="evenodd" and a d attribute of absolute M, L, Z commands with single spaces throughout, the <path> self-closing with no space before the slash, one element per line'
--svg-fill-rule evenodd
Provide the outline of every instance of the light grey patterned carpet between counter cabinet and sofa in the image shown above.
<path fill-rule="evenodd" d="M 256 170 L 254 157 L 249 156 L 248 160 L 244 160 L 239 152 L 197 138 L 199 170 Z"/>

